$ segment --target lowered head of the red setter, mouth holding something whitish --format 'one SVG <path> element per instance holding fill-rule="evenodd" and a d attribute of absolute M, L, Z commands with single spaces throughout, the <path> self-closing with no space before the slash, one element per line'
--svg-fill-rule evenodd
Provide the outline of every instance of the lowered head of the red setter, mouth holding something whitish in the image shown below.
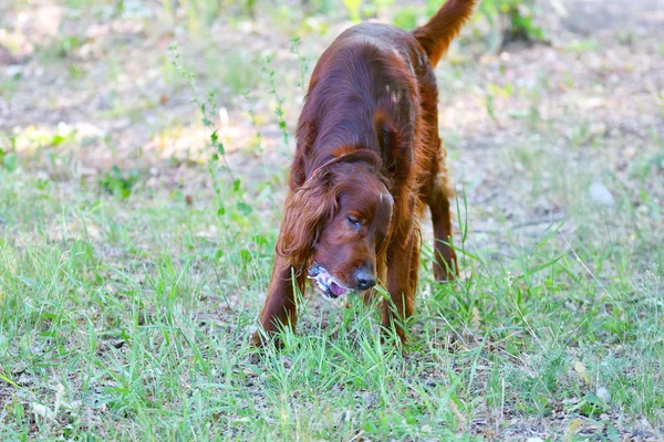
<path fill-rule="evenodd" d="M 277 252 L 329 297 L 376 284 L 394 200 L 370 150 L 325 162 L 287 200 Z"/>

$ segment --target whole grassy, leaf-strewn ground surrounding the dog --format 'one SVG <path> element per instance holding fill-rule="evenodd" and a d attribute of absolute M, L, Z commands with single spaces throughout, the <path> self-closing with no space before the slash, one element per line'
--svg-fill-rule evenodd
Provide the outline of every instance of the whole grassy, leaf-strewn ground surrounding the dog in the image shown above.
<path fill-rule="evenodd" d="M 303 86 L 352 23 L 239 3 L 0 6 L 1 439 L 662 440 L 660 1 L 536 3 L 535 43 L 478 13 L 437 69 L 461 277 L 425 220 L 408 347 L 308 294 L 264 354 Z"/>

